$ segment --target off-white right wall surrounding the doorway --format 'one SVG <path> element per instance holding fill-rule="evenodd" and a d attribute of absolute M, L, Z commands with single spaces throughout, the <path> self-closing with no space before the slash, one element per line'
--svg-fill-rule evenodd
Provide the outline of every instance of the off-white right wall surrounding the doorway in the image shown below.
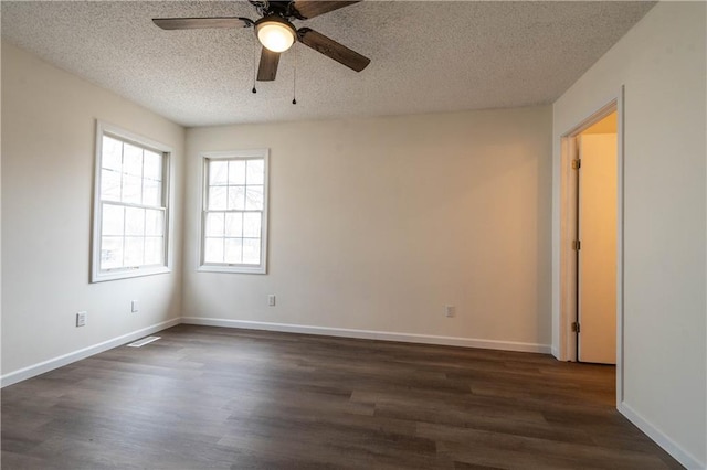
<path fill-rule="evenodd" d="M 558 292 L 560 136 L 625 85 L 620 410 L 689 468 L 707 462 L 706 8 L 658 3 L 553 106 Z"/>

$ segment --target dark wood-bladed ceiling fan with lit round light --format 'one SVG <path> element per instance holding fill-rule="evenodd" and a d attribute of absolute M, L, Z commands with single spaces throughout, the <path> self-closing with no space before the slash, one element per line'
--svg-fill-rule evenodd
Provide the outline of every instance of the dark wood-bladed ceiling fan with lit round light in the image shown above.
<path fill-rule="evenodd" d="M 152 22 L 163 30 L 254 28 L 255 35 L 263 45 L 257 68 L 257 79 L 270 82 L 274 81 L 277 75 L 281 52 L 287 51 L 295 41 L 299 41 L 304 45 L 329 58 L 334 58 L 356 72 L 361 72 L 366 68 L 371 62 L 370 58 L 309 28 L 296 29 L 292 23 L 293 20 L 308 20 L 359 1 L 361 0 L 249 0 L 262 17 L 257 21 L 241 17 L 213 17 L 155 18 Z"/>

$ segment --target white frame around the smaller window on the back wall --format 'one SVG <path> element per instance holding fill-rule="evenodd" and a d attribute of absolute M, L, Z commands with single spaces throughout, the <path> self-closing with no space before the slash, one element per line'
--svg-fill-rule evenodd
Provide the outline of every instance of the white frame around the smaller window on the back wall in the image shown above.
<path fill-rule="evenodd" d="M 207 202 L 209 193 L 209 161 L 211 160 L 250 160 L 262 159 L 264 161 L 263 180 L 263 218 L 261 223 L 261 263 L 260 265 L 245 264 L 218 264 L 204 261 L 204 244 L 207 228 Z M 234 273 L 234 274 L 267 274 L 267 220 L 268 220 L 268 192 L 270 192 L 270 149 L 231 150 L 224 152 L 201 153 L 201 216 L 199 229 L 199 271 L 205 273 Z"/>

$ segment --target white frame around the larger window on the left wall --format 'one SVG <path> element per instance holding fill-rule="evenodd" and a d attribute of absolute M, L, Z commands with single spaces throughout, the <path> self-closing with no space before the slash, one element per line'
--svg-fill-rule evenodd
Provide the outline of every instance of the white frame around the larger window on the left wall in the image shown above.
<path fill-rule="evenodd" d="M 101 270 L 101 235 L 102 235 L 102 203 L 101 200 L 101 170 L 103 157 L 103 136 L 109 136 L 128 143 L 147 148 L 163 154 L 162 165 L 162 201 L 165 204 L 165 255 L 163 265 L 159 266 L 135 266 L 115 269 Z M 171 147 L 143 136 L 129 132 L 117 126 L 113 126 L 101 120 L 96 120 L 96 156 L 95 156 L 95 173 L 94 173 L 94 194 L 93 194 L 93 237 L 92 237 L 92 263 L 91 263 L 91 282 L 102 282 L 106 280 L 126 279 L 140 276 L 151 276 L 172 270 L 172 231 L 173 223 L 171 216 L 172 192 L 171 181 L 173 180 L 173 169 L 171 164 L 171 156 L 173 150 Z"/>

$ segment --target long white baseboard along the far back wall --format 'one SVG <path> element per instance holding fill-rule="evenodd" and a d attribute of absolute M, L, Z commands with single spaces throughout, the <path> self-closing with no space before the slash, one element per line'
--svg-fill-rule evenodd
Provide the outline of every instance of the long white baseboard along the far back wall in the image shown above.
<path fill-rule="evenodd" d="M 204 327 L 242 328 L 285 333 L 319 334 L 326 337 L 358 338 L 363 340 L 400 341 L 404 343 L 441 344 L 447 346 L 481 348 L 487 350 L 550 353 L 550 345 L 514 341 L 478 340 L 473 338 L 435 337 L 431 334 L 393 333 L 388 331 L 352 330 L 348 328 L 313 327 L 262 321 L 226 320 L 218 318 L 182 317 L 182 323 Z"/>

